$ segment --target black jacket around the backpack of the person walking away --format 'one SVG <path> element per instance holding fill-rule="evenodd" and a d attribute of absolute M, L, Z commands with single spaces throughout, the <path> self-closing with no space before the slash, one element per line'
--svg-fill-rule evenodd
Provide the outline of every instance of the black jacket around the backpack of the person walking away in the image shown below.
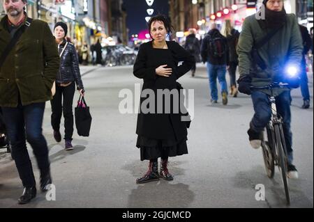
<path fill-rule="evenodd" d="M 220 36 L 220 38 L 223 38 L 225 47 L 225 54 L 221 58 L 215 58 L 211 54 L 211 49 L 209 47 L 211 38 L 214 38 L 214 36 L 218 35 Z M 229 65 L 229 49 L 227 45 L 227 39 L 225 38 L 225 36 L 221 35 L 218 29 L 211 29 L 211 31 L 209 31 L 207 35 L 205 35 L 201 45 L 201 56 L 203 62 L 207 61 L 211 63 L 211 65 Z"/>

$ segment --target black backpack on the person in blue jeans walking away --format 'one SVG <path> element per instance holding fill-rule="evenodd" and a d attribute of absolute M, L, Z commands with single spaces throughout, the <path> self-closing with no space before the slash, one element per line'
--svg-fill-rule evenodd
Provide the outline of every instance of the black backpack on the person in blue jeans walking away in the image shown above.
<path fill-rule="evenodd" d="M 208 47 L 208 51 L 214 58 L 223 58 L 225 56 L 227 45 L 225 44 L 225 38 L 220 33 L 210 36 Z"/>

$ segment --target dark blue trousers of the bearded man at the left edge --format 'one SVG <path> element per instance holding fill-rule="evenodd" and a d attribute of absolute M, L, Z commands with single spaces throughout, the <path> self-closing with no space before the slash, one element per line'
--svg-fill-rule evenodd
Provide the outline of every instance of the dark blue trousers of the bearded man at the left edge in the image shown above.
<path fill-rule="evenodd" d="M 19 102 L 16 108 L 2 107 L 11 154 L 24 187 L 36 186 L 26 140 L 33 148 L 40 175 L 50 171 L 47 141 L 42 129 L 44 111 L 45 102 L 27 106 L 22 106 Z"/>

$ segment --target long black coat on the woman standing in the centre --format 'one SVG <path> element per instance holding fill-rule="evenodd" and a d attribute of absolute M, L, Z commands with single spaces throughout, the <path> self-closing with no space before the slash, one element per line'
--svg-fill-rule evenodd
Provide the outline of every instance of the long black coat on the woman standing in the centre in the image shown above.
<path fill-rule="evenodd" d="M 142 92 L 145 89 L 154 91 L 152 95 L 157 103 L 158 89 L 177 89 L 177 79 L 190 70 L 195 62 L 194 57 L 188 53 L 177 42 L 167 42 L 168 49 L 154 49 L 152 42 L 146 42 L 140 45 L 137 54 L 133 74 L 135 77 L 143 79 L 144 84 Z M 182 65 L 178 66 L 179 61 L 183 61 Z M 168 65 L 172 68 L 170 77 L 160 77 L 156 74 L 156 68 L 160 65 Z M 146 97 L 141 97 L 140 106 L 142 106 Z M 165 101 L 163 101 L 163 107 Z M 172 100 L 173 104 L 173 100 Z M 140 113 L 137 116 L 136 133 L 139 136 L 146 136 L 147 138 L 167 139 L 175 134 L 177 140 L 187 136 L 186 122 L 181 121 L 181 114 L 174 113 L 157 113 L 157 106 L 155 106 L 155 113 Z"/>

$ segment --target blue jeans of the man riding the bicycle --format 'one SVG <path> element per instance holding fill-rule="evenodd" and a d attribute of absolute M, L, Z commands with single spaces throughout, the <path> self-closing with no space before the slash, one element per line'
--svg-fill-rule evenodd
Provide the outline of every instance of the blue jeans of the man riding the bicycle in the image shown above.
<path fill-rule="evenodd" d="M 260 91 L 253 91 L 251 94 L 255 114 L 251 120 L 251 129 L 255 132 L 261 132 L 267 126 L 271 119 L 271 107 L 268 95 Z M 290 129 L 291 122 L 291 95 L 290 90 L 281 93 L 275 97 L 277 113 L 283 118 L 283 134 L 285 135 L 285 144 L 287 147 L 288 163 L 292 164 L 293 150 L 292 150 L 292 132 Z"/>

